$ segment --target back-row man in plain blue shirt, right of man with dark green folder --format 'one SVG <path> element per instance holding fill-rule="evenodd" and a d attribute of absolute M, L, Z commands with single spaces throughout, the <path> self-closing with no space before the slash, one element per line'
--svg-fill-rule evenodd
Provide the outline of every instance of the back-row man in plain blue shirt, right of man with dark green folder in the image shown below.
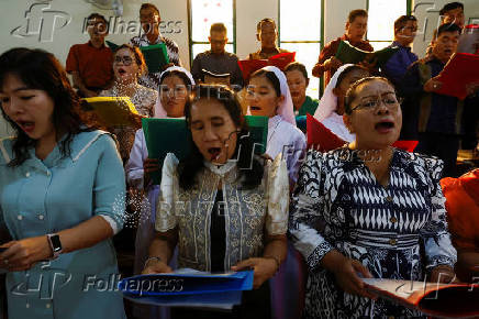
<path fill-rule="evenodd" d="M 399 51 L 381 67 L 385 76 L 398 86 L 408 67 L 417 61 L 417 55 L 411 52 L 411 44 L 417 32 L 417 19 L 414 15 L 401 15 L 394 21 L 394 41 L 390 45 Z"/>

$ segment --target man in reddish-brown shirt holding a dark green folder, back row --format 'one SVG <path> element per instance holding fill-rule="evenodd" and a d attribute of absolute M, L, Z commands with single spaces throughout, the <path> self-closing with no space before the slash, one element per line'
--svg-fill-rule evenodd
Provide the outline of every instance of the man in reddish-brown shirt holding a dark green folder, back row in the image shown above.
<path fill-rule="evenodd" d="M 350 11 L 346 22 L 346 33 L 341 37 L 333 40 L 323 47 L 320 57 L 318 58 L 318 63 L 313 67 L 313 76 L 322 77 L 325 73 L 326 75 L 324 85 L 330 82 L 331 77 L 334 75 L 337 68 L 342 66 L 341 61 L 335 57 L 341 41 L 348 41 L 353 46 L 364 51 L 372 52 L 374 48 L 369 42 L 363 40 L 367 28 L 368 12 L 363 9 Z M 366 66 L 372 67 L 368 65 Z"/>

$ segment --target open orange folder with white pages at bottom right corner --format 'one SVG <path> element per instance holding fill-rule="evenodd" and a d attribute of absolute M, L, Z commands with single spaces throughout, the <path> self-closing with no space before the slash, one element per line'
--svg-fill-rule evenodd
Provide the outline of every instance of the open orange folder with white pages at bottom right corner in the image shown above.
<path fill-rule="evenodd" d="M 479 316 L 479 284 L 438 284 L 363 278 L 366 289 L 380 298 L 441 318 Z"/>

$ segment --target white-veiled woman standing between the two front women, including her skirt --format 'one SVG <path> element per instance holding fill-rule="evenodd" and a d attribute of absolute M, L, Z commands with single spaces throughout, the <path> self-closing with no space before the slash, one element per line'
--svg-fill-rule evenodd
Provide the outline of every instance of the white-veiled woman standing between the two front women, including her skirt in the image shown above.
<path fill-rule="evenodd" d="M 266 154 L 275 158 L 282 153 L 292 189 L 305 150 L 305 138 L 296 127 L 294 109 L 286 75 L 275 66 L 255 72 L 249 79 L 246 100 L 253 116 L 269 118 Z M 270 280 L 274 318 L 299 318 L 304 283 L 302 274 L 300 255 L 292 244 L 288 243 L 287 260 Z"/>

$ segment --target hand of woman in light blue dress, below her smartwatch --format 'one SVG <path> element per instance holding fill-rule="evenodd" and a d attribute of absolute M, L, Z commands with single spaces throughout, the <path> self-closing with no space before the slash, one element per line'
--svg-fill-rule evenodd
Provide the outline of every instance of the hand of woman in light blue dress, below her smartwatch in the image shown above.
<path fill-rule="evenodd" d="M 27 271 L 53 254 L 46 235 L 11 241 L 1 248 L 7 248 L 7 251 L 0 254 L 0 265 L 10 272 Z"/>

